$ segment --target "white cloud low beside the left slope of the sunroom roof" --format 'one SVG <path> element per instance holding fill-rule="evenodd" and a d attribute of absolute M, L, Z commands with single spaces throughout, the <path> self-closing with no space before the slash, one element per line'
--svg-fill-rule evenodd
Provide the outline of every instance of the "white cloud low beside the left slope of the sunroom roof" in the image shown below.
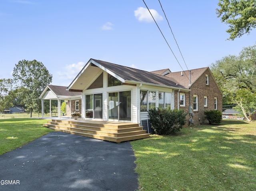
<path fill-rule="evenodd" d="M 85 63 L 84 62 L 78 62 L 70 65 L 66 65 L 64 67 L 64 71 L 58 71 L 58 78 L 62 80 L 68 80 L 72 81 L 76 75 L 82 70 L 84 67 Z"/>

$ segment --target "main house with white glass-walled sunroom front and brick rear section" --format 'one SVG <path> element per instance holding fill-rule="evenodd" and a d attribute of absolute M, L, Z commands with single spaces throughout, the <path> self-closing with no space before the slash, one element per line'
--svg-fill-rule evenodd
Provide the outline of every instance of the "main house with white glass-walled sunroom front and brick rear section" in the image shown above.
<path fill-rule="evenodd" d="M 194 124 L 205 110 L 222 111 L 222 92 L 208 67 L 143 71 L 90 59 L 67 88 L 82 93 L 82 118 L 140 123 L 155 107 L 184 109 Z"/>

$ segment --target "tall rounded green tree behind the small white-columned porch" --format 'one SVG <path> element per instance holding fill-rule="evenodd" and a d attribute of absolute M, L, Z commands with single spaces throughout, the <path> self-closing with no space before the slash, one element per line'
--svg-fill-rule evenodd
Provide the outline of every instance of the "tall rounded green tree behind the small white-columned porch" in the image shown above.
<path fill-rule="evenodd" d="M 20 90 L 25 95 L 24 103 L 30 112 L 30 117 L 32 117 L 32 112 L 41 111 L 41 100 L 39 96 L 46 85 L 52 82 L 52 75 L 42 62 L 36 60 L 19 61 L 15 65 L 12 75 L 18 86 L 23 88 Z"/>

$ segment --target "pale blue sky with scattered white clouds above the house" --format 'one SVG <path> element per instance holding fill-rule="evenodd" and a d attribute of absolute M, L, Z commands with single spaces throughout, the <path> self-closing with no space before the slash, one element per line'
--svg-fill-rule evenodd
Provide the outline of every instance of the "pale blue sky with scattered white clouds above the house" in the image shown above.
<path fill-rule="evenodd" d="M 24 59 L 42 62 L 52 85 L 67 87 L 90 58 L 145 71 L 185 71 L 256 43 L 256 29 L 227 40 L 218 0 L 160 0 L 184 62 L 159 1 L 144 1 L 172 51 L 143 0 L 0 0 L 0 79 L 12 78 Z"/>

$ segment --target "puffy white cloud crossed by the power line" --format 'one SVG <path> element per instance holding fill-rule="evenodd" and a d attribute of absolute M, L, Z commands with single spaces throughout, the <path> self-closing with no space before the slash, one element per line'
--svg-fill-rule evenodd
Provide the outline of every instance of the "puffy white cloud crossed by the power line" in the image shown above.
<path fill-rule="evenodd" d="M 150 9 L 150 12 L 156 21 L 163 20 L 163 17 L 156 10 Z M 150 12 L 147 8 L 139 7 L 134 11 L 134 16 L 141 22 L 154 22 Z"/>

